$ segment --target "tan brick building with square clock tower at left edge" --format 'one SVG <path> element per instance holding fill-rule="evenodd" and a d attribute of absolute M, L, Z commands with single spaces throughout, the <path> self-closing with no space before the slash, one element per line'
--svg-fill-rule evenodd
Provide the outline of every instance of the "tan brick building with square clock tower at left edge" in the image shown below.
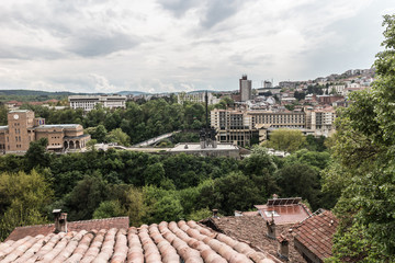
<path fill-rule="evenodd" d="M 0 152 L 23 153 L 41 138 L 48 139 L 47 150 L 65 152 L 84 150 L 90 135 L 79 124 L 45 125 L 45 118 L 36 118 L 32 111 L 11 111 L 8 126 L 0 126 Z"/>

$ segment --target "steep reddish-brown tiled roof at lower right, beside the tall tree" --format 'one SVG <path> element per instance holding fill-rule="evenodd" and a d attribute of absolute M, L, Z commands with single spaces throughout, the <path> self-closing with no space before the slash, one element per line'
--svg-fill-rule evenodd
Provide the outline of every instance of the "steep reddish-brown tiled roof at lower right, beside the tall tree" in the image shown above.
<path fill-rule="evenodd" d="M 295 240 L 324 261 L 331 256 L 332 237 L 337 226 L 338 220 L 335 215 L 326 210 L 296 226 L 293 229 L 293 236 Z"/>

